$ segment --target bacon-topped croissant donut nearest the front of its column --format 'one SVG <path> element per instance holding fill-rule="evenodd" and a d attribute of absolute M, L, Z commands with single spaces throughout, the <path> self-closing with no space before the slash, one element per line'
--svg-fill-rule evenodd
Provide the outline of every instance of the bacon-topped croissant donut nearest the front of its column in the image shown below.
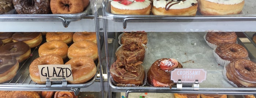
<path fill-rule="evenodd" d="M 122 60 L 117 59 L 110 67 L 112 79 L 122 86 L 123 84 L 134 84 L 141 86 L 144 82 L 145 72 L 142 61 L 137 63 L 124 64 Z"/>

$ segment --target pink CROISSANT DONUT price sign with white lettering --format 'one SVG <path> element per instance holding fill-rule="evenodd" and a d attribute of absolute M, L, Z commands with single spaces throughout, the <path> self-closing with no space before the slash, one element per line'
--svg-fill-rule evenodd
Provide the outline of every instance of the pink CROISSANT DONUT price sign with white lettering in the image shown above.
<path fill-rule="evenodd" d="M 204 69 L 176 68 L 171 71 L 171 80 L 174 83 L 177 83 L 179 79 L 182 83 L 194 83 L 196 80 L 201 83 L 206 79 L 206 73 Z"/>

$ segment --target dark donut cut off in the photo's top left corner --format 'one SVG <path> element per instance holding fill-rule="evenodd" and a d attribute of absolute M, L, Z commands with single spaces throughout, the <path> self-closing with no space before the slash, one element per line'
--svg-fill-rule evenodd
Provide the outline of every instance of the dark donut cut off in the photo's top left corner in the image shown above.
<path fill-rule="evenodd" d="M 12 1 L 0 0 L 0 14 L 5 14 L 14 9 Z"/>

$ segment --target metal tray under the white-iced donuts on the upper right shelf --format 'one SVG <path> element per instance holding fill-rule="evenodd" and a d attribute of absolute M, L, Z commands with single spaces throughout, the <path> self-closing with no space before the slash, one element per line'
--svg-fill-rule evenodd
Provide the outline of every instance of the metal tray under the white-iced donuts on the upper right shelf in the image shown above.
<path fill-rule="evenodd" d="M 211 21 L 251 21 L 256 19 L 256 2 L 254 0 L 245 0 L 245 5 L 240 14 L 237 15 L 215 15 L 203 16 L 197 12 L 196 16 L 168 16 L 168 15 L 122 15 L 111 13 L 111 2 L 107 0 L 103 3 L 104 18 L 115 22 L 123 22 L 123 28 L 126 28 L 127 22 L 211 22 Z"/>

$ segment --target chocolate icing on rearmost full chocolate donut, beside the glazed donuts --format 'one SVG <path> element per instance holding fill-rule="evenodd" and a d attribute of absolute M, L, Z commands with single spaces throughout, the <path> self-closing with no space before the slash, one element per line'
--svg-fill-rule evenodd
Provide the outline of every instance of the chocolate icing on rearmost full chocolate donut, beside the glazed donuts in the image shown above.
<path fill-rule="evenodd" d="M 38 32 L 16 32 L 12 35 L 12 39 L 16 41 L 29 41 L 38 37 L 40 33 Z"/>

